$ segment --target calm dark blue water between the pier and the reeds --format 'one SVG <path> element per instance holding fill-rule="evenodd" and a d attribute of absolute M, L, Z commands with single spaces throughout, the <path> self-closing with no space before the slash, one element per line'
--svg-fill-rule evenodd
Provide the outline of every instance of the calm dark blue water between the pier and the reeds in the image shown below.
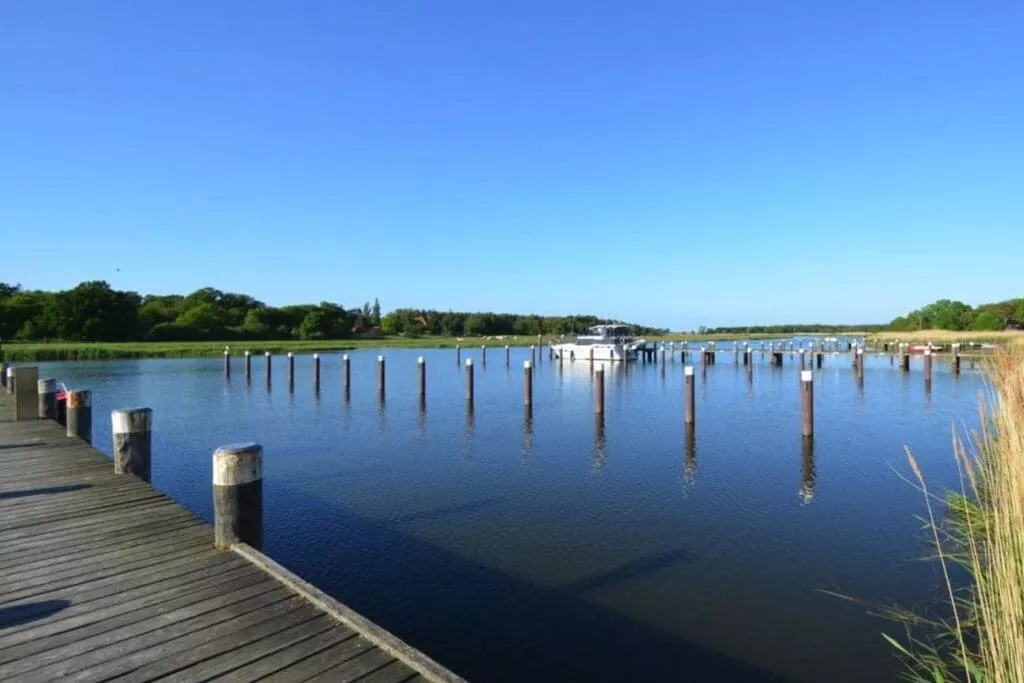
<path fill-rule="evenodd" d="M 387 357 L 387 400 L 376 396 Z M 428 398 L 416 397 L 416 358 Z M 212 451 L 264 446 L 264 550 L 474 681 L 880 681 L 898 673 L 869 604 L 936 598 L 904 444 L 939 487 L 955 481 L 953 425 L 977 425 L 968 370 L 922 360 L 902 375 L 870 356 L 815 371 L 813 451 L 800 436 L 799 362 L 756 355 L 752 381 L 722 353 L 696 373 L 696 429 L 682 421 L 682 365 L 610 367 L 603 433 L 586 362 L 544 358 L 531 421 L 522 361 L 476 364 L 467 417 L 454 350 L 285 358 L 264 385 L 253 357 L 42 364 L 93 391 L 94 442 L 112 409 L 154 410 L 153 482 L 211 517 Z"/>

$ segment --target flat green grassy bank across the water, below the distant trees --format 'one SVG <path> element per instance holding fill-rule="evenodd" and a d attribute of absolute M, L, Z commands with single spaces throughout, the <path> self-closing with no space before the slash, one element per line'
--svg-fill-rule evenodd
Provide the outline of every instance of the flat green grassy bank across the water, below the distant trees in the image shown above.
<path fill-rule="evenodd" d="M 671 334 L 646 337 L 652 342 L 682 342 L 697 340 L 732 341 L 735 339 L 779 339 L 785 335 L 688 335 Z M 824 335 L 813 335 L 824 336 Z M 545 336 L 542 343 L 552 338 Z M 359 348 L 464 348 L 487 346 L 529 346 L 537 344 L 537 337 L 356 337 L 335 340 L 281 340 L 281 341 L 203 341 L 203 342 L 5 342 L 3 359 L 14 362 L 38 362 L 41 360 L 116 360 L 120 358 L 188 358 L 211 357 L 223 354 L 224 347 L 241 355 L 245 351 L 262 354 L 269 351 L 282 353 L 326 353 L 329 351 L 350 351 Z"/>

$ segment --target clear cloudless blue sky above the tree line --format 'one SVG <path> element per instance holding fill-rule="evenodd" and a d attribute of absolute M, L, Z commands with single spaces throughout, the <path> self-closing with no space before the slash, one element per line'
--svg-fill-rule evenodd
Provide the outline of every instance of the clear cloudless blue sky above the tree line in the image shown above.
<path fill-rule="evenodd" d="M 0 254 L 673 329 L 1020 296 L 1024 2 L 6 0 Z"/>

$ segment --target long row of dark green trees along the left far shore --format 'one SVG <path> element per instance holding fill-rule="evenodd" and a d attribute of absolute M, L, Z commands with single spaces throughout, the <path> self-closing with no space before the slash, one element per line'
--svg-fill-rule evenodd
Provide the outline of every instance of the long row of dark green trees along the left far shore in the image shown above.
<path fill-rule="evenodd" d="M 140 295 L 86 282 L 60 292 L 26 291 L 0 283 L 0 338 L 18 341 L 221 341 L 344 339 L 391 335 L 552 335 L 602 323 L 593 315 L 551 317 L 398 309 L 380 302 L 267 306 L 245 294 L 213 288 L 181 295 Z M 637 333 L 650 328 L 632 326 Z"/>

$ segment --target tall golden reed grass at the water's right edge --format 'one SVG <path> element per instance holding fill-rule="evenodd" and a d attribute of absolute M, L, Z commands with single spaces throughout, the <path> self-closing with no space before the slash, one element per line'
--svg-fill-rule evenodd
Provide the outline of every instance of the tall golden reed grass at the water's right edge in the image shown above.
<path fill-rule="evenodd" d="M 889 614 L 906 627 L 903 639 L 886 637 L 914 681 L 1024 682 L 1024 348 L 997 349 L 986 372 L 981 429 L 953 434 L 959 489 L 937 497 L 907 452 L 948 601 L 939 617 Z"/>

